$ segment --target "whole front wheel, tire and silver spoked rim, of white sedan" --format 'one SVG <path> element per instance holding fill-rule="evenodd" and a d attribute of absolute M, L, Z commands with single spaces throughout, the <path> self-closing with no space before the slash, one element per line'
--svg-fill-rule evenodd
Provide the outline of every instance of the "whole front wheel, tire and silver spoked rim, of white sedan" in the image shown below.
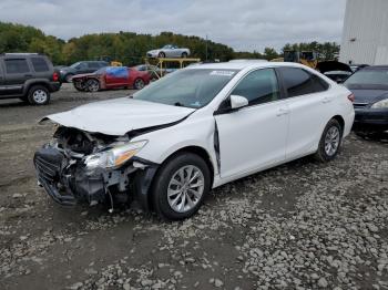
<path fill-rule="evenodd" d="M 191 183 L 188 176 L 194 178 Z M 200 209 L 210 188 L 211 172 L 205 160 L 196 154 L 181 153 L 167 159 L 155 176 L 151 191 L 153 209 L 162 219 L 188 218 Z"/>

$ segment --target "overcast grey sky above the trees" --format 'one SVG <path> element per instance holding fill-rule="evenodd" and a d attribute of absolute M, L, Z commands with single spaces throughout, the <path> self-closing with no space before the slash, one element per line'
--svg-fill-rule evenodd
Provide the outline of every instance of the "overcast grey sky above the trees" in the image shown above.
<path fill-rule="evenodd" d="M 345 0 L 0 0 L 0 21 L 64 40 L 94 32 L 172 31 L 239 51 L 340 41 Z"/>

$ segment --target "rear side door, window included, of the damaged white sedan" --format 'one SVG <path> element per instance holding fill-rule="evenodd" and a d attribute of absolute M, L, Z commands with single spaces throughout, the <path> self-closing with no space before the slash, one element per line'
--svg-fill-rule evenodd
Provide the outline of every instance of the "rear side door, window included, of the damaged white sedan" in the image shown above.
<path fill-rule="evenodd" d="M 317 146 L 326 123 L 335 115 L 329 84 L 299 68 L 278 68 L 287 94 L 289 133 L 286 158 L 310 153 Z"/>

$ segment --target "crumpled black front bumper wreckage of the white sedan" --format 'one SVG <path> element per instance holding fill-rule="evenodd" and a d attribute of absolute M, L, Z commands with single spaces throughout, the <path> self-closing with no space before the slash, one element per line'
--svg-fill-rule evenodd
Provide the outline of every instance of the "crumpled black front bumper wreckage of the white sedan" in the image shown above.
<path fill-rule="evenodd" d="M 101 204 L 112 200 L 112 195 L 119 193 L 132 195 L 143 209 L 149 209 L 149 189 L 157 165 L 134 160 L 140 167 L 129 164 L 115 170 L 98 169 L 90 173 L 81 162 L 67 157 L 63 152 L 48 144 L 37 151 L 33 157 L 39 184 L 60 205 Z"/>

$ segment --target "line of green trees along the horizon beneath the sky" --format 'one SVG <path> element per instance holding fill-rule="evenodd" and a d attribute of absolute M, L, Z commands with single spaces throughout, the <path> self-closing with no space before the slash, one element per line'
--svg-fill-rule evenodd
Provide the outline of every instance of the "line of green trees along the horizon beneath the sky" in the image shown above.
<path fill-rule="evenodd" d="M 285 50 L 316 51 L 319 59 L 333 60 L 338 55 L 335 42 L 287 43 L 282 51 L 265 48 L 264 52 L 236 52 L 232 48 L 194 35 L 162 32 L 157 35 L 135 32 L 94 33 L 64 41 L 47 35 L 41 30 L 16 23 L 0 22 L 0 53 L 39 52 L 49 55 L 54 64 L 71 64 L 81 60 L 115 60 L 124 65 L 143 62 L 146 52 L 165 44 L 188 48 L 192 55 L 202 60 L 228 61 L 232 59 L 280 58 Z M 207 55 L 206 55 L 207 51 Z M 207 58 L 206 58 L 207 56 Z"/>

